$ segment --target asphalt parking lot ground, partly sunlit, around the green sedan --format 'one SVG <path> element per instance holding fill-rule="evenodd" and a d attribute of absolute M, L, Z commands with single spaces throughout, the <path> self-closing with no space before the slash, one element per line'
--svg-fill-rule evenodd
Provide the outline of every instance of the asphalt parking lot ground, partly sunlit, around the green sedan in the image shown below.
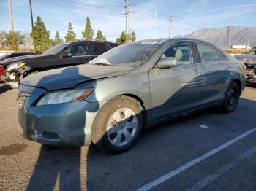
<path fill-rule="evenodd" d="M 16 92 L 0 84 L 0 190 L 256 190 L 256 87 L 232 114 L 208 109 L 160 124 L 120 155 L 24 140 Z"/>

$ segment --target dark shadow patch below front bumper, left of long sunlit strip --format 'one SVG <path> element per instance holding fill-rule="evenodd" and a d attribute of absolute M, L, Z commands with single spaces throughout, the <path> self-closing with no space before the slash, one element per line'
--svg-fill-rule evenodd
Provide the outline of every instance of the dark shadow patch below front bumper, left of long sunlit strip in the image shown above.
<path fill-rule="evenodd" d="M 80 147 L 42 146 L 26 190 L 81 190 L 80 185 Z"/>

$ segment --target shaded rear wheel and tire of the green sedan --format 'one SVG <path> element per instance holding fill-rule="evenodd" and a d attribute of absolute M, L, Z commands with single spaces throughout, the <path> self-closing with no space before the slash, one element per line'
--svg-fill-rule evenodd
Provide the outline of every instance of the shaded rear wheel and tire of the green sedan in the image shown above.
<path fill-rule="evenodd" d="M 231 113 L 235 111 L 236 106 L 238 105 L 240 96 L 240 90 L 236 82 L 231 82 L 227 87 L 225 97 L 221 106 L 221 109 L 225 113 Z"/>

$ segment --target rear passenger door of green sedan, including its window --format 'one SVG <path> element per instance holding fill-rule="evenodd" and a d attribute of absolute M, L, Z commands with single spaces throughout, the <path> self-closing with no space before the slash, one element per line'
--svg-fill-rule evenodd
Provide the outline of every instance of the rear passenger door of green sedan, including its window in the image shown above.
<path fill-rule="evenodd" d="M 200 55 L 200 71 L 203 74 L 203 102 L 211 104 L 221 101 L 225 90 L 227 58 L 211 44 L 195 42 Z"/>

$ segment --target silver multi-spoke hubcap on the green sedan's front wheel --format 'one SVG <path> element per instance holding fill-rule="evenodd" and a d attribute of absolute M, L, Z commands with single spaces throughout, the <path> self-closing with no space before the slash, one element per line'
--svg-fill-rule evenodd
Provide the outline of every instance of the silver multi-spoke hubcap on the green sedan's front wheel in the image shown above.
<path fill-rule="evenodd" d="M 108 141 L 116 147 L 122 147 L 132 141 L 137 129 L 138 119 L 135 112 L 129 108 L 118 109 L 108 120 Z"/>

